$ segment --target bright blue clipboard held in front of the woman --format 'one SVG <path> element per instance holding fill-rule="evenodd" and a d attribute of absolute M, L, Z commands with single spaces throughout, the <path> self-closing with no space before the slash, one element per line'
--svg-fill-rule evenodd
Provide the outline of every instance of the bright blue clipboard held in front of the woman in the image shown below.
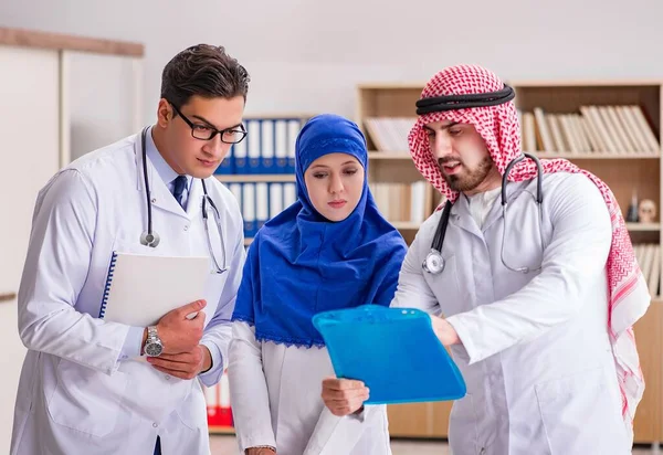
<path fill-rule="evenodd" d="M 366 404 L 457 400 L 466 387 L 430 316 L 413 308 L 364 305 L 313 317 L 337 378 L 369 388 Z"/>

